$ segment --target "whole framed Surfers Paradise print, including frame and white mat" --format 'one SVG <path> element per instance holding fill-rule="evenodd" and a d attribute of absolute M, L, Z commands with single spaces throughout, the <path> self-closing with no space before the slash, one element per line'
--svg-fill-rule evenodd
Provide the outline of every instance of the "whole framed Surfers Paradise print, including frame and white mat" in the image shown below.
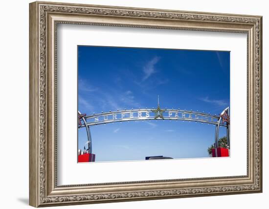
<path fill-rule="evenodd" d="M 262 192 L 262 17 L 30 3 L 30 205 Z"/>

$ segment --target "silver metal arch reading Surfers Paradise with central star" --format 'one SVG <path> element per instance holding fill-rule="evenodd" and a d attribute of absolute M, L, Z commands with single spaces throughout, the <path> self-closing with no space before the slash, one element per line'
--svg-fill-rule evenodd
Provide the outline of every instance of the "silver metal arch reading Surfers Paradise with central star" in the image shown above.
<path fill-rule="evenodd" d="M 210 115 L 201 112 L 194 112 L 192 110 L 180 110 L 180 109 L 161 109 L 158 103 L 157 108 L 152 109 L 132 109 L 132 110 L 117 110 L 100 114 L 86 115 L 78 112 L 78 128 L 86 128 L 88 137 L 88 150 L 92 154 L 92 139 L 90 135 L 90 126 L 101 125 L 113 122 L 125 122 L 135 120 L 183 120 L 201 122 L 207 124 L 216 125 L 215 130 L 215 148 L 218 148 L 219 143 L 219 129 L 221 126 L 226 128 L 227 133 L 227 145 L 230 146 L 230 116 L 229 107 L 217 115 Z M 83 121 L 83 124 L 81 123 Z M 217 149 L 216 156 L 217 156 Z"/>

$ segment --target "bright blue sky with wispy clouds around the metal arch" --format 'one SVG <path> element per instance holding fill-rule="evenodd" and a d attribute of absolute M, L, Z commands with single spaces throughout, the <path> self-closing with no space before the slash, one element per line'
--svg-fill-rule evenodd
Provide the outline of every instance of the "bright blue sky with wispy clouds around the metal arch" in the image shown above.
<path fill-rule="evenodd" d="M 78 46 L 78 110 L 91 115 L 160 107 L 219 115 L 230 103 L 230 53 L 153 48 Z M 215 126 L 186 121 L 130 121 L 90 127 L 99 161 L 146 156 L 208 157 Z M 221 128 L 220 137 L 226 135 Z M 231 139 L 232 140 L 232 139 Z M 78 146 L 87 142 L 78 131 Z"/>

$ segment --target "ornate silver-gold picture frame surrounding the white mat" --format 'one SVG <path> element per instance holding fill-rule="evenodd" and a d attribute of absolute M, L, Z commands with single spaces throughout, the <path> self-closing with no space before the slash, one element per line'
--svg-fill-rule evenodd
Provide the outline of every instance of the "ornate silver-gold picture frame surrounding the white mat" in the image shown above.
<path fill-rule="evenodd" d="M 29 21 L 31 206 L 262 192 L 261 16 L 33 2 Z M 57 24 L 60 23 L 247 34 L 247 175 L 59 186 Z"/>

